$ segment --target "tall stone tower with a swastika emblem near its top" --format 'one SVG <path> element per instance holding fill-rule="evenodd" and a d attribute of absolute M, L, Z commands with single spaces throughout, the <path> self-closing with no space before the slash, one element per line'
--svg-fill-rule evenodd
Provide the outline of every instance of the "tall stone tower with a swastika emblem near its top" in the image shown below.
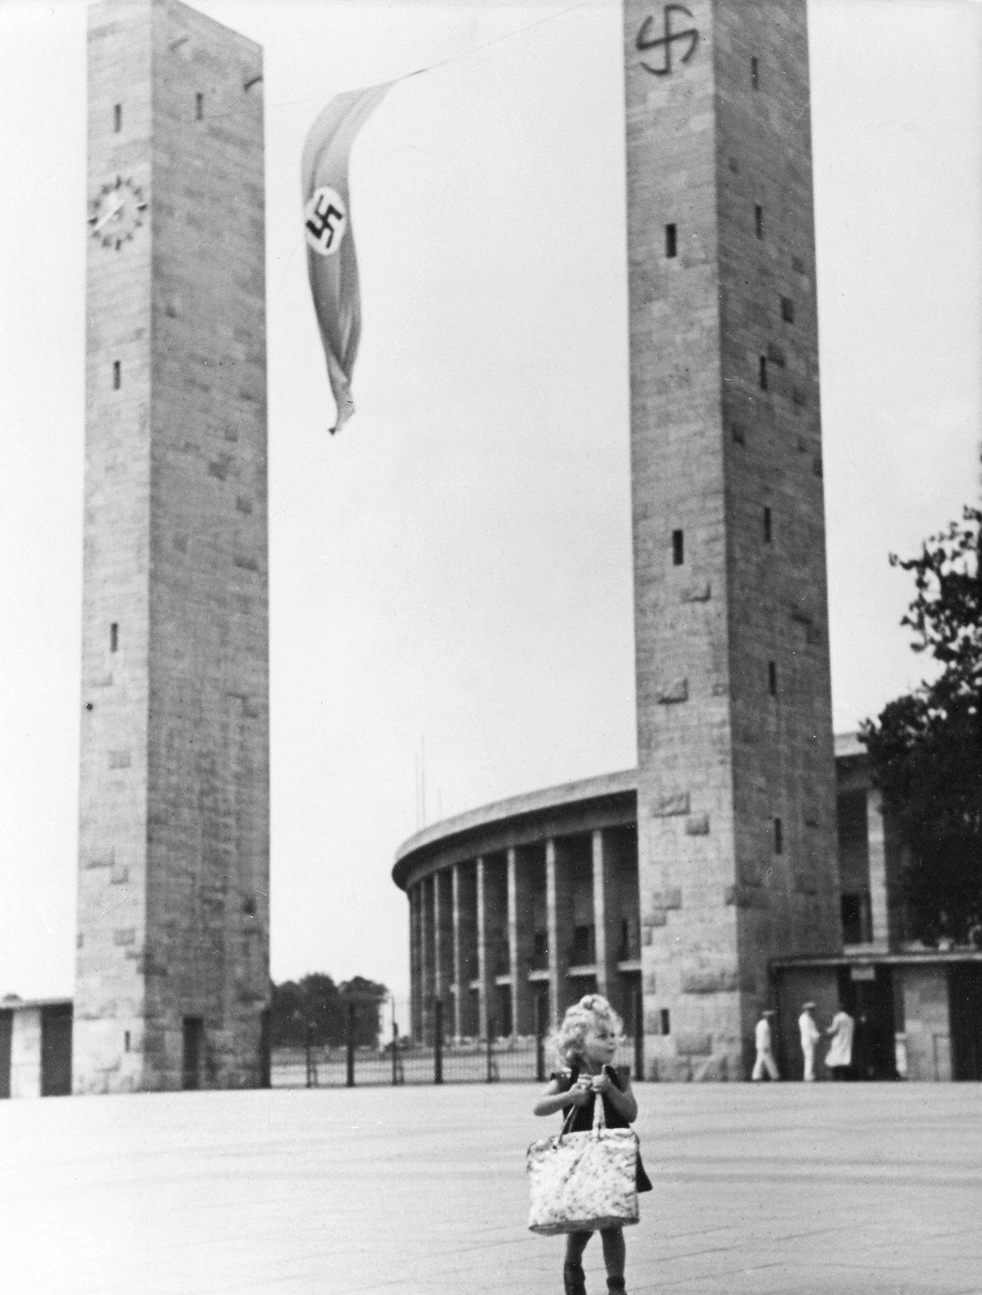
<path fill-rule="evenodd" d="M 624 0 L 645 1055 L 839 940 L 805 0 Z"/>

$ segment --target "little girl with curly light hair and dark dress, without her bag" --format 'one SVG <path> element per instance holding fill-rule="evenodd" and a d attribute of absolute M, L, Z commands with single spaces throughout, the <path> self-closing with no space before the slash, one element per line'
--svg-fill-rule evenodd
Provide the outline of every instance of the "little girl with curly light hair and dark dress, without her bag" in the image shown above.
<path fill-rule="evenodd" d="M 609 1128 L 627 1128 L 637 1118 L 637 1102 L 631 1092 L 627 1074 L 619 1075 L 611 1062 L 622 1035 L 621 1018 L 599 993 L 588 993 L 571 1006 L 553 1036 L 560 1059 L 569 1066 L 551 1076 L 549 1087 L 535 1103 L 536 1115 L 562 1111 L 564 1128 L 578 1133 L 593 1127 L 593 1103 L 600 1096 L 604 1119 Z M 570 1114 L 570 1107 L 577 1107 Z M 637 1190 L 650 1191 L 652 1184 L 637 1158 Z M 571 1232 L 566 1234 L 566 1259 L 562 1265 L 562 1285 L 566 1295 L 587 1295 L 584 1285 L 583 1251 L 593 1234 Z M 606 1285 L 611 1292 L 624 1291 L 624 1234 L 621 1228 L 601 1228 L 606 1264 Z"/>

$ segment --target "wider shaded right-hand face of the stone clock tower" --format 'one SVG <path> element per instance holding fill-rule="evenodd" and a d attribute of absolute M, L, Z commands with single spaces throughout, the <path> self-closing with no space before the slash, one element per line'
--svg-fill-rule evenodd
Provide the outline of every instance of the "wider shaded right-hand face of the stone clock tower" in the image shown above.
<path fill-rule="evenodd" d="M 251 1087 L 269 980 L 262 52 L 158 3 L 153 57 L 148 1036 L 175 1087 L 201 1017 L 202 1083 Z"/>

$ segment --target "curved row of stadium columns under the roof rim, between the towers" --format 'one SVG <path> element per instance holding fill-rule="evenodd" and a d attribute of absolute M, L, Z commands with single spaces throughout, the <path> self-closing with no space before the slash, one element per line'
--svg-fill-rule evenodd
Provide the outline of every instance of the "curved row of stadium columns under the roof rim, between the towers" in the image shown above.
<path fill-rule="evenodd" d="M 595 828 L 451 860 L 408 879 L 413 1039 L 434 1002 L 456 1039 L 531 1035 L 583 993 L 630 1019 L 640 984 L 634 825 Z"/>

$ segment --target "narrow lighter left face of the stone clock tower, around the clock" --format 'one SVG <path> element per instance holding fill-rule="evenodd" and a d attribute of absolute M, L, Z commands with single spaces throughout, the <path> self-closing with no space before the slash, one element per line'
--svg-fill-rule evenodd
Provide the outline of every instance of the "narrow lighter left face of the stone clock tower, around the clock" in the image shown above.
<path fill-rule="evenodd" d="M 88 193 L 149 197 L 150 9 L 95 5 Z M 119 105 L 117 130 L 115 105 Z M 110 198 L 110 201 L 114 201 Z M 104 211 L 105 214 L 105 211 Z M 89 207 L 91 219 L 100 219 Z M 76 1092 L 143 1087 L 150 497 L 150 221 L 89 236 L 82 610 Z M 104 242 L 101 234 L 110 236 Z M 114 365 L 119 365 L 117 370 Z M 118 374 L 118 376 L 117 376 Z M 115 625 L 115 632 L 113 631 Z M 127 1035 L 130 1048 L 126 1046 Z"/>

